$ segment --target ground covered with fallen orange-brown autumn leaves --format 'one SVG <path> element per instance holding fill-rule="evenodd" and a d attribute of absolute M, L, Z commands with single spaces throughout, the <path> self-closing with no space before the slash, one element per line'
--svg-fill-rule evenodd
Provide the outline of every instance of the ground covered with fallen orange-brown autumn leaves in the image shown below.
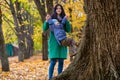
<path fill-rule="evenodd" d="M 49 60 L 42 61 L 41 55 L 34 55 L 24 62 L 18 62 L 18 57 L 10 57 L 10 71 L 2 72 L 0 64 L 0 80 L 48 80 Z M 65 60 L 64 69 L 69 65 L 69 58 Z M 57 75 L 57 64 L 54 76 Z"/>

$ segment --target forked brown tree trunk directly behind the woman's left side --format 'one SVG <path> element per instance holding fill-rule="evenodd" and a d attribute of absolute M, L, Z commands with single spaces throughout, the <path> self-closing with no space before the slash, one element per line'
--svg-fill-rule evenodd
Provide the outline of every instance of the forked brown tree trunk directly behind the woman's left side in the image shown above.
<path fill-rule="evenodd" d="M 39 15 L 41 16 L 42 22 L 45 21 L 47 13 L 51 14 L 53 9 L 53 0 L 46 0 L 47 12 L 45 11 L 45 0 L 34 0 Z M 42 59 L 48 60 L 48 34 L 49 31 L 42 33 Z"/>

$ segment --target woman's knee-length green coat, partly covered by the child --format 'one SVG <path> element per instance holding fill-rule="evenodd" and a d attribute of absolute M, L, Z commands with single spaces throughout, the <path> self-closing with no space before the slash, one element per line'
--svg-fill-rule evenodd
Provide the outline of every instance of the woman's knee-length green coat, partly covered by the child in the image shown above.
<path fill-rule="evenodd" d="M 45 21 L 43 24 L 43 31 L 46 31 L 49 28 L 49 24 Z M 66 21 L 64 26 L 66 32 L 71 31 L 70 22 Z M 50 31 L 50 37 L 48 40 L 48 57 L 51 58 L 67 58 L 67 47 L 60 46 L 55 39 L 53 32 Z"/>

